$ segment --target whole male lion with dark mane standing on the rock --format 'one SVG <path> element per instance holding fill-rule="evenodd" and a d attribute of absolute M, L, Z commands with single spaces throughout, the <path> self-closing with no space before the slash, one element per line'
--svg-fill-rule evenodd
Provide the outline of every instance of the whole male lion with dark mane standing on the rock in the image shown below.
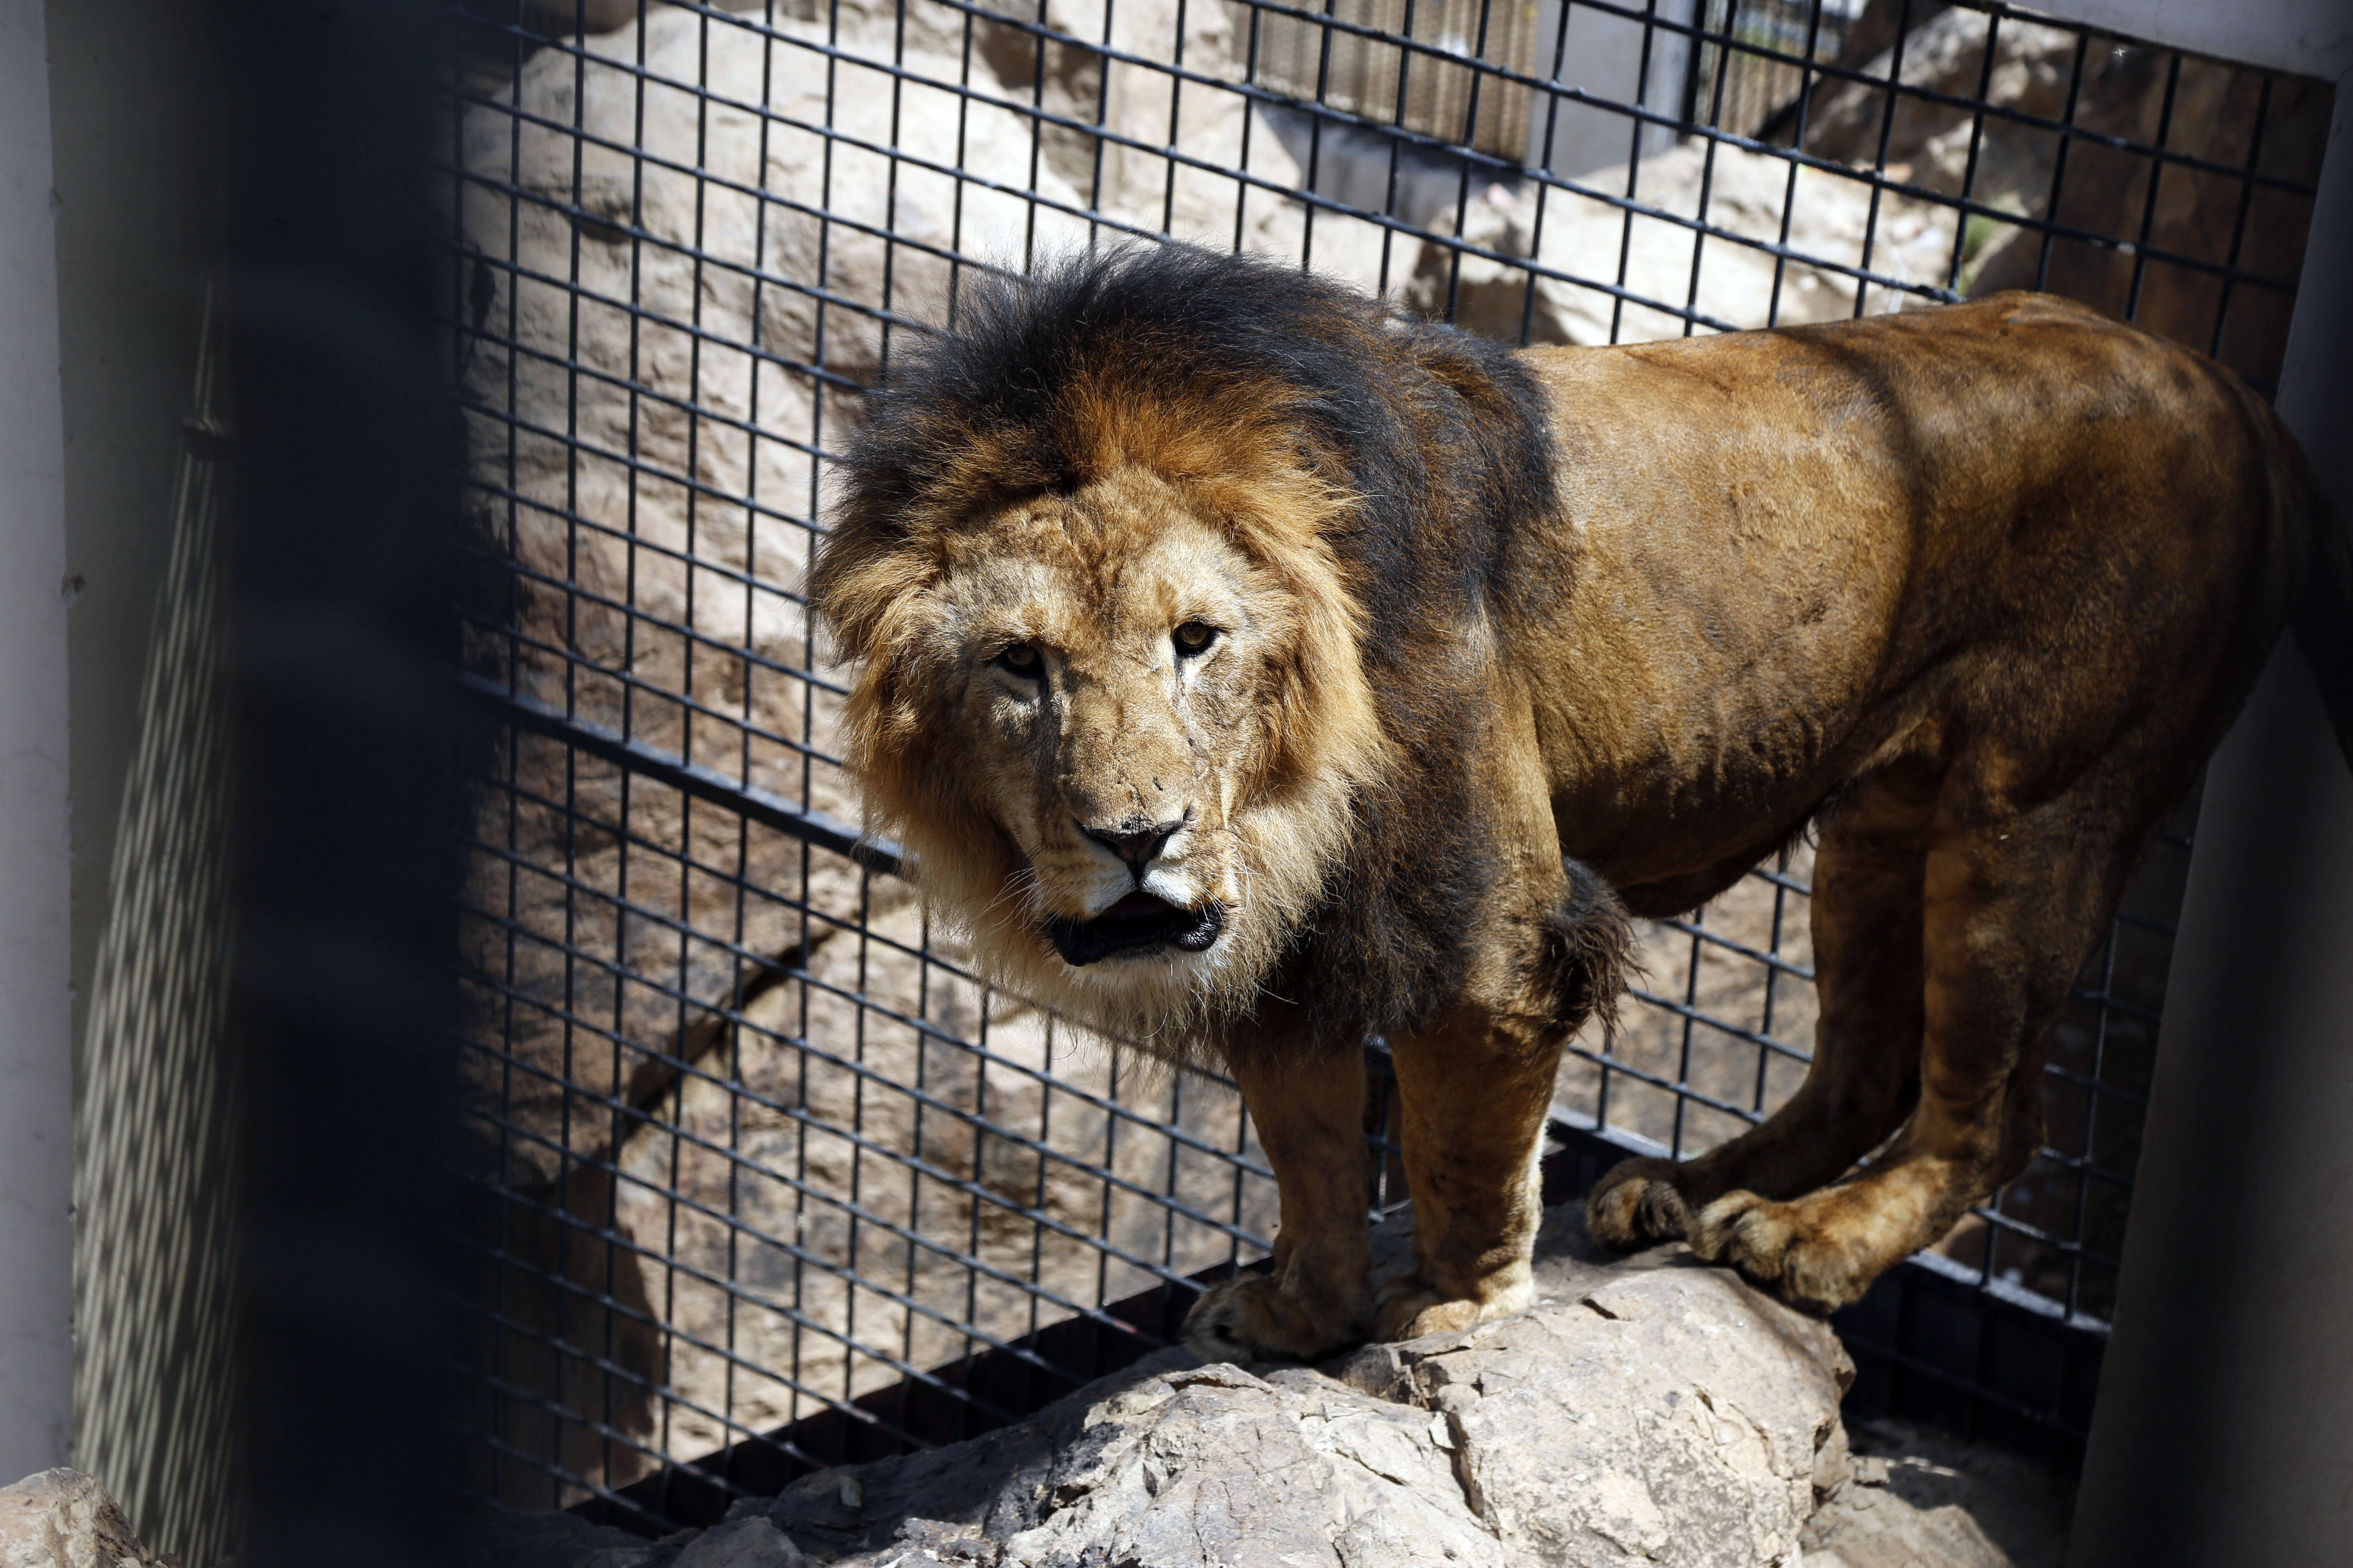
<path fill-rule="evenodd" d="M 1200 1300 L 1207 1356 L 1522 1307 L 1626 912 L 1807 823 L 1805 1086 L 1588 1213 L 1852 1302 L 2038 1147 L 2045 1027 L 2282 623 L 2353 677 L 2264 402 L 2033 294 L 1511 353 L 1120 252 L 901 353 L 845 475 L 812 595 L 875 825 L 993 976 L 1259 1124 L 1275 1267 Z M 1417 1232 L 1379 1300 L 1367 1034 Z"/>

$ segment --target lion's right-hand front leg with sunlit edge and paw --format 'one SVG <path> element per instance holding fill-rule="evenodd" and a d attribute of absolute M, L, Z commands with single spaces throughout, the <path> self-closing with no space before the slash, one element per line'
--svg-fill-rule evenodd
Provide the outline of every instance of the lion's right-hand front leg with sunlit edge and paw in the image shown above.
<path fill-rule="evenodd" d="M 1381 1288 L 1384 1340 L 1468 1328 L 1522 1312 L 1544 1201 L 1537 1154 L 1562 1032 L 1466 1011 L 1391 1041 L 1414 1192 L 1414 1269 Z"/>

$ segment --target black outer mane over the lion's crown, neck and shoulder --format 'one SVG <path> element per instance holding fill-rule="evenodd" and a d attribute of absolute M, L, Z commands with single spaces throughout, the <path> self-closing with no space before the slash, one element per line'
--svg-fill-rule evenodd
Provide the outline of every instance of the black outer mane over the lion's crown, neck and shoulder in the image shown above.
<path fill-rule="evenodd" d="M 1555 505 L 1544 393 L 1504 346 L 1341 284 L 1165 244 L 972 287 L 953 334 L 892 357 L 840 480 L 840 527 L 892 536 L 974 482 L 986 501 L 1089 482 L 1104 388 L 1195 418 L 1268 418 L 1353 496 L 1327 529 L 1365 611 L 1365 672 L 1402 769 L 1268 978 L 1257 1030 L 1353 1048 L 1452 997 L 1494 877 L 1466 759 L 1485 701 L 1461 642 L 1515 527 Z M 974 475 L 972 454 L 986 454 Z"/>

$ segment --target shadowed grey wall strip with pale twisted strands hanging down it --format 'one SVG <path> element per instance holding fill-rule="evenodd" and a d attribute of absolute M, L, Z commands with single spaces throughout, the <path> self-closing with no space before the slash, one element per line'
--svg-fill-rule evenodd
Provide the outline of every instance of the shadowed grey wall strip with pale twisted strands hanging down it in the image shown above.
<path fill-rule="evenodd" d="M 181 1561 L 228 1552 L 231 1220 L 214 531 L 214 7 L 52 0 L 73 715 L 73 1462 Z"/>

